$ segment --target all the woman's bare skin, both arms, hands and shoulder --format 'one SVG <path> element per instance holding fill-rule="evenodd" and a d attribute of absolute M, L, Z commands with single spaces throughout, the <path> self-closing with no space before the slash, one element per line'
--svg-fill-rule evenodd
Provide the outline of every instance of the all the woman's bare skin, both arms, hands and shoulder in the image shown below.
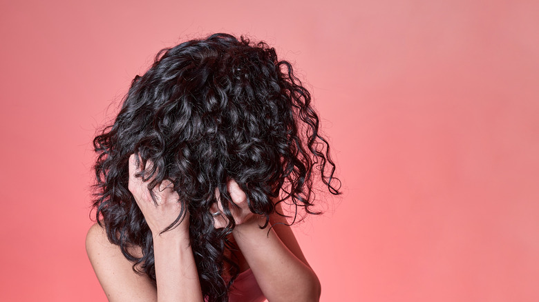
<path fill-rule="evenodd" d="M 178 194 L 171 189 L 169 181 L 163 181 L 153 189 L 158 203 L 155 206 L 147 183 L 135 177 L 137 171 L 135 157 L 131 155 L 129 190 L 153 234 L 157 287 L 148 276 L 133 272 L 132 263 L 125 259 L 117 245 L 108 241 L 105 230 L 96 223 L 86 235 L 86 252 L 97 279 L 108 301 L 201 302 L 196 263 L 189 246 L 189 213 L 185 213 L 176 228 L 160 234 L 180 213 Z M 238 205 L 230 208 L 237 224 L 231 239 L 238 246 L 236 256 L 240 269 L 251 268 L 268 301 L 319 301 L 319 280 L 305 260 L 292 230 L 287 225 L 275 225 L 286 223 L 285 218 L 274 214 L 269 223 L 274 228 L 261 230 L 259 225 L 264 224 L 263 218 L 249 211 L 245 192 L 236 181 L 229 181 L 227 189 Z M 211 207 L 212 213 L 221 210 L 217 203 Z M 214 219 L 216 228 L 227 225 L 224 215 Z M 140 248 L 133 248 L 133 252 L 140 254 Z"/>

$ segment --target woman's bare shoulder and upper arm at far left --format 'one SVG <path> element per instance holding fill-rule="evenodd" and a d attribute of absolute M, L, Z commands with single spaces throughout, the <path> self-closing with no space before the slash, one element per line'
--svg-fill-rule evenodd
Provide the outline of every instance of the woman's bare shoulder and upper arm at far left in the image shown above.
<path fill-rule="evenodd" d="M 149 277 L 133 272 L 133 263 L 108 241 L 97 223 L 86 234 L 86 253 L 108 301 L 157 301 Z"/>

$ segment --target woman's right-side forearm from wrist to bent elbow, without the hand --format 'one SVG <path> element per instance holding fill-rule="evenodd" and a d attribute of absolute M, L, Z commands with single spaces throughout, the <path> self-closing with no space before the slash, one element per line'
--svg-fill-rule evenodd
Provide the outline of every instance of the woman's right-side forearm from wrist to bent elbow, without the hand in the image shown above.
<path fill-rule="evenodd" d="M 266 298 L 319 301 L 320 283 L 314 271 L 294 256 L 273 229 L 261 230 L 259 223 L 263 221 L 237 225 L 232 234 Z"/>

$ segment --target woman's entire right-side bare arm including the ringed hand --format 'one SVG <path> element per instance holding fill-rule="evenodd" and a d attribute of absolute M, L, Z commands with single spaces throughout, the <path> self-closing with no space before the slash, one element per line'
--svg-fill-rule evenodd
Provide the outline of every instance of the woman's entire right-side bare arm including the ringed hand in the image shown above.
<path fill-rule="evenodd" d="M 261 230 L 258 226 L 265 220 L 250 212 L 245 192 L 234 180 L 227 186 L 230 197 L 238 205 L 237 208 L 231 207 L 236 221 L 236 228 L 232 231 L 234 240 L 266 298 L 271 302 L 319 301 L 319 279 L 305 260 L 290 226 L 280 224 L 287 223 L 285 217 L 273 214 L 269 223 L 274 228 L 269 230 L 268 226 Z M 280 205 L 276 208 L 281 212 Z M 220 204 L 212 208 L 212 212 L 217 211 L 223 211 Z M 222 215 L 215 221 L 218 228 L 227 225 Z"/>

